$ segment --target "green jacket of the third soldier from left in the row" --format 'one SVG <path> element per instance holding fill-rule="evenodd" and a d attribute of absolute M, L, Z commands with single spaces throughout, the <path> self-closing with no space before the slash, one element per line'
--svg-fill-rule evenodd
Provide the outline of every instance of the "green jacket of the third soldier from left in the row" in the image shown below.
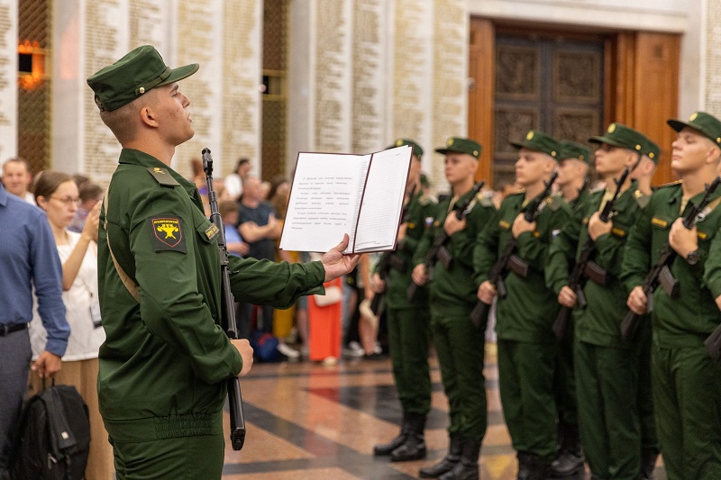
<path fill-rule="evenodd" d="M 508 195 L 493 222 L 481 232 L 473 253 L 475 285 L 488 280 L 488 273 L 509 240 L 511 228 L 519 213 L 524 212 L 525 194 Z M 523 278 L 508 271 L 505 282 L 507 297 L 497 302 L 496 332 L 501 340 L 553 342 L 551 325 L 559 304 L 553 292 L 546 288 L 543 269 L 554 235 L 570 219 L 570 206 L 553 195 L 543 203 L 543 211 L 536 217 L 536 230 L 525 231 L 516 239 L 516 255 L 529 265 Z"/>

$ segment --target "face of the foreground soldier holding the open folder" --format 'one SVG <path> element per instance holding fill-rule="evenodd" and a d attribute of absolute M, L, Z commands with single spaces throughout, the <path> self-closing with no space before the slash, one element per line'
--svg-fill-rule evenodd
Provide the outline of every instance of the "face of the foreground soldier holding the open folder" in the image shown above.
<path fill-rule="evenodd" d="M 156 90 L 156 89 L 153 89 Z M 196 131 L 190 124 L 190 99 L 180 93 L 178 83 L 157 88 L 155 110 L 160 114 L 160 129 L 163 137 L 173 146 L 193 138 Z"/>

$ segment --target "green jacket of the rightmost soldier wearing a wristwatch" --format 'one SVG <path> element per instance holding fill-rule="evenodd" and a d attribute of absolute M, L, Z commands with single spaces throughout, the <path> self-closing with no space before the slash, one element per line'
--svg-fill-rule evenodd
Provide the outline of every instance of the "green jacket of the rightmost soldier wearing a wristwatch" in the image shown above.
<path fill-rule="evenodd" d="M 694 196 L 680 215 L 681 185 L 659 187 L 631 231 L 621 277 L 628 292 L 643 283 L 643 278 L 659 258 L 663 245 L 669 240 L 671 224 L 686 216 L 692 204 L 698 204 L 703 192 Z M 699 347 L 707 335 L 721 322 L 715 299 L 721 294 L 721 208 L 713 199 L 715 208 L 701 213 L 697 222 L 698 249 L 701 258 L 689 265 L 677 257 L 671 264 L 671 273 L 680 284 L 680 294 L 670 298 L 662 286 L 653 294 L 653 340 L 664 348 Z"/>

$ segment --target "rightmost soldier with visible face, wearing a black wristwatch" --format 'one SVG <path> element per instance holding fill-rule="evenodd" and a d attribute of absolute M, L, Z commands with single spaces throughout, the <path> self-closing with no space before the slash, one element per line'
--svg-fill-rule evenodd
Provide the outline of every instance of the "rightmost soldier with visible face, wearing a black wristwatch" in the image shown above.
<path fill-rule="evenodd" d="M 681 180 L 654 191 L 627 241 L 621 277 L 628 307 L 638 314 L 651 310 L 653 408 L 666 473 L 670 480 L 721 478 L 721 366 L 703 345 L 721 319 L 721 190 L 693 228 L 681 218 L 716 177 L 721 122 L 697 112 L 688 122 L 668 123 L 679 132 L 671 168 Z M 678 253 L 671 274 L 679 293 L 659 287 L 647 298 L 643 278 L 666 242 Z"/>

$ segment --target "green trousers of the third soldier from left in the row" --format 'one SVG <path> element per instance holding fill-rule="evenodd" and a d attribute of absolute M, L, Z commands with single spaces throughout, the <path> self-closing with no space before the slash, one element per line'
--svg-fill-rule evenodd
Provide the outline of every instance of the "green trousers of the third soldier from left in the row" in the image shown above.
<path fill-rule="evenodd" d="M 498 390 L 513 448 L 549 462 L 556 453 L 557 349 L 555 343 L 498 339 Z"/>

